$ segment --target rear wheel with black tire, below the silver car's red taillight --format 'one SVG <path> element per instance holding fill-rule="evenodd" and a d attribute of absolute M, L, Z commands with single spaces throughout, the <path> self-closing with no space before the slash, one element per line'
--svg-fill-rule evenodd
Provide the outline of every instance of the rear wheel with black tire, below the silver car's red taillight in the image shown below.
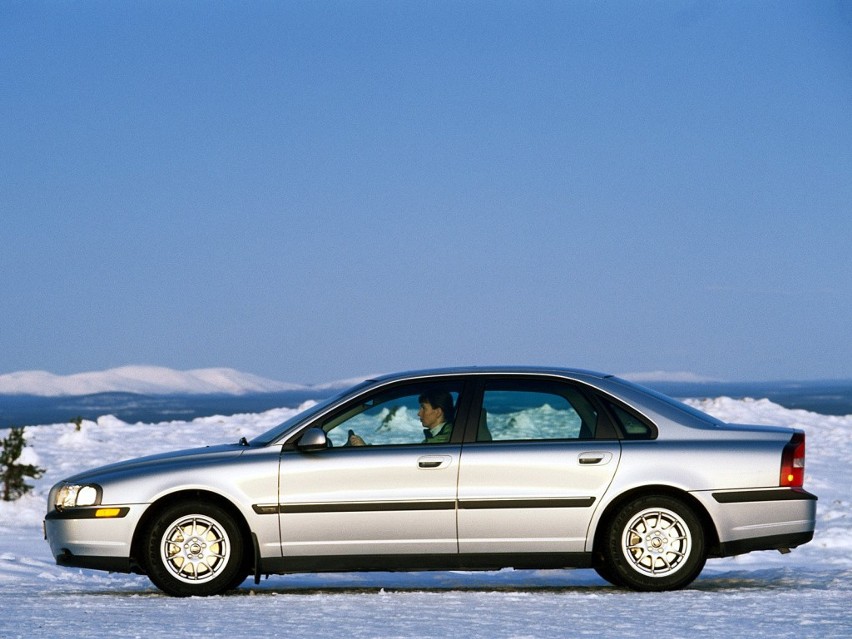
<path fill-rule="evenodd" d="M 612 519 L 598 574 L 632 590 L 677 590 L 707 559 L 704 530 L 684 502 L 663 495 L 629 502 Z M 609 575 L 609 577 L 607 577 Z"/>

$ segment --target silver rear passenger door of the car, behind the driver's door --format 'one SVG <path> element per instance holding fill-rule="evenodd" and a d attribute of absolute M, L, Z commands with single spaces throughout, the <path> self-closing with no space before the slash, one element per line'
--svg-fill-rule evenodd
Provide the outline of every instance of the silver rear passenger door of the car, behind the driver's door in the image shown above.
<path fill-rule="evenodd" d="M 546 378 L 486 381 L 478 405 L 459 472 L 459 551 L 583 552 L 620 458 L 606 417 L 579 387 Z"/>

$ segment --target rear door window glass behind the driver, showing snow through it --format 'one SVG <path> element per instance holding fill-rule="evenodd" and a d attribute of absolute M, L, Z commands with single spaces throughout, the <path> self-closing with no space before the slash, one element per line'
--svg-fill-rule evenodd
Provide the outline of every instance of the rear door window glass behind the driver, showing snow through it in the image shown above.
<path fill-rule="evenodd" d="M 592 439 L 594 406 L 576 389 L 552 382 L 487 384 L 477 441 Z"/>

